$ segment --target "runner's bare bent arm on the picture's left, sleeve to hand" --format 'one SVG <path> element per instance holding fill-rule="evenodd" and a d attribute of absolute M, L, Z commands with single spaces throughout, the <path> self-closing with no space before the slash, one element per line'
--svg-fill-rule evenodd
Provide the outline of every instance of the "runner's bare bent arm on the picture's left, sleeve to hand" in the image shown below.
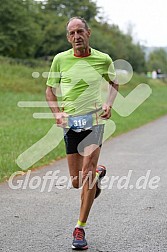
<path fill-rule="evenodd" d="M 56 89 L 55 89 L 56 92 Z M 65 112 L 61 112 L 56 94 L 53 93 L 53 88 L 47 86 L 46 88 L 46 100 L 48 102 L 48 105 L 56 119 L 56 124 L 59 127 L 65 127 L 66 123 L 63 122 L 63 118 L 67 117 L 68 115 Z"/>

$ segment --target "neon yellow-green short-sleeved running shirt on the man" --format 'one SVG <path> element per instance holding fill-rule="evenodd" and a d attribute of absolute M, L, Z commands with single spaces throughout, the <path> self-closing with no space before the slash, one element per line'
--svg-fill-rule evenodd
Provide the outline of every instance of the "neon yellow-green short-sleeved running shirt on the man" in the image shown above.
<path fill-rule="evenodd" d="M 54 57 L 46 84 L 60 86 L 64 112 L 82 115 L 102 106 L 101 85 L 115 76 L 108 54 L 91 48 L 91 54 L 81 58 L 70 49 Z"/>

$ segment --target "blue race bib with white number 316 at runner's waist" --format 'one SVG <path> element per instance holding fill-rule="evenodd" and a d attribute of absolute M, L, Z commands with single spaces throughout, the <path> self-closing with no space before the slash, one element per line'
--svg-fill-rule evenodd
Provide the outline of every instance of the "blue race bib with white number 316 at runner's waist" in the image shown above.
<path fill-rule="evenodd" d="M 88 129 L 93 125 L 92 115 L 69 116 L 68 126 L 71 129 Z"/>

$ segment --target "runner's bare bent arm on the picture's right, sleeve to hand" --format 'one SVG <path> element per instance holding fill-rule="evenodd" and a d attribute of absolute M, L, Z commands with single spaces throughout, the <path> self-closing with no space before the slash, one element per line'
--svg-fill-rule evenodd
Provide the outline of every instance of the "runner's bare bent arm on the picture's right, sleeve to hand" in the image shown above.
<path fill-rule="evenodd" d="M 116 80 L 109 82 L 109 94 L 106 103 L 103 104 L 102 119 L 109 119 L 111 117 L 111 108 L 118 93 L 118 82 Z"/>

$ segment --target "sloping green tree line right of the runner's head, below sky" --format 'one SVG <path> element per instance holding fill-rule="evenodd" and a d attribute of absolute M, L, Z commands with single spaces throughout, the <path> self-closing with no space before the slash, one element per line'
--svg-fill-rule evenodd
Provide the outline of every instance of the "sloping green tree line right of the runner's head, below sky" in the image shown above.
<path fill-rule="evenodd" d="M 134 44 L 130 35 L 120 31 L 117 25 L 91 22 L 91 45 L 96 49 L 108 53 L 113 60 L 127 60 L 136 72 L 145 70 L 145 55 L 139 44 Z"/>

